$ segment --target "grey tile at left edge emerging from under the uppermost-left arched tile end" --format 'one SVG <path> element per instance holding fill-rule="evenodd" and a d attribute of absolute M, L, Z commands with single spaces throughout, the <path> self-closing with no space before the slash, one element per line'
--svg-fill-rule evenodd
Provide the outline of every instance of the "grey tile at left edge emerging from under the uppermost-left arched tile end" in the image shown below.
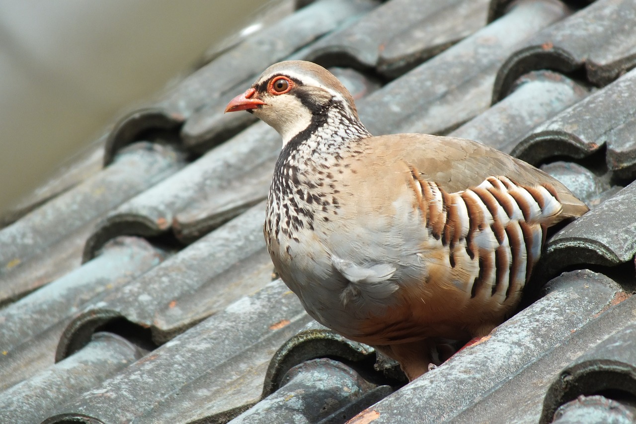
<path fill-rule="evenodd" d="M 135 144 L 111 166 L 5 227 L 0 231 L 1 298 L 18 297 L 81 264 L 76 249 L 95 220 L 183 165 L 183 155 L 170 147 Z M 47 264 L 53 266 L 43 269 Z"/>

